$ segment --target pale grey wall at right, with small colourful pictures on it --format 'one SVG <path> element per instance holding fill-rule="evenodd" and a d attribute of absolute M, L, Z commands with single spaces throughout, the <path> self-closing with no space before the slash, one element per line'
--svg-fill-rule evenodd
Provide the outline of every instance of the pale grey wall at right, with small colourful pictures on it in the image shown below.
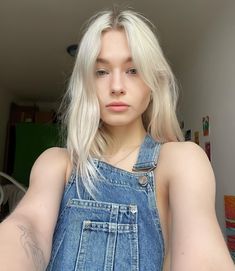
<path fill-rule="evenodd" d="M 226 1 L 225 1 L 226 3 Z M 222 230 L 225 194 L 235 195 L 235 2 L 231 1 L 180 67 L 185 128 L 199 130 L 210 117 L 212 166 L 217 180 L 216 210 Z"/>

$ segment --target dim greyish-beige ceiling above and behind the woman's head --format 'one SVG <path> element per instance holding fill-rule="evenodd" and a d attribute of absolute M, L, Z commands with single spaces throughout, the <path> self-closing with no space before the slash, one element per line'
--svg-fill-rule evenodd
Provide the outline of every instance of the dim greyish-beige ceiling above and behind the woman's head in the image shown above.
<path fill-rule="evenodd" d="M 0 0 L 0 87 L 25 101 L 57 100 L 74 62 L 66 47 L 78 42 L 85 20 L 112 2 L 133 7 L 157 26 L 174 70 L 225 5 L 220 0 Z"/>

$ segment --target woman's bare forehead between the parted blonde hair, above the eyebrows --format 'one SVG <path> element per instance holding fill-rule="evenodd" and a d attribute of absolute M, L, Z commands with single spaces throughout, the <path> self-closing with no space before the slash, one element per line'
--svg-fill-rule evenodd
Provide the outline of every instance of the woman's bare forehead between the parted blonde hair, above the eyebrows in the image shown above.
<path fill-rule="evenodd" d="M 131 50 L 124 30 L 112 29 L 102 33 L 99 58 L 131 58 Z"/>

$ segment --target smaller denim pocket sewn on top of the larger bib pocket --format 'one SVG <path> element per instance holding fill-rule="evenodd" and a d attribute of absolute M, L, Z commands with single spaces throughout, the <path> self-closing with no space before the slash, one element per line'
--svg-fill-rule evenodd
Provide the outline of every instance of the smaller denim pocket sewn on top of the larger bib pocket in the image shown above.
<path fill-rule="evenodd" d="M 138 271 L 136 224 L 83 221 L 75 271 Z"/>

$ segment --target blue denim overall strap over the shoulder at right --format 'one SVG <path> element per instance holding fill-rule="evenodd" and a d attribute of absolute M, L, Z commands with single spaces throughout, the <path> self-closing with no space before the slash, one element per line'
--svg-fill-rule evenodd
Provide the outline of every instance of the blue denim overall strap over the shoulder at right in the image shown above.
<path fill-rule="evenodd" d="M 151 171 L 156 168 L 161 143 L 155 141 L 149 134 L 146 134 L 140 147 L 137 162 L 133 171 Z"/>

